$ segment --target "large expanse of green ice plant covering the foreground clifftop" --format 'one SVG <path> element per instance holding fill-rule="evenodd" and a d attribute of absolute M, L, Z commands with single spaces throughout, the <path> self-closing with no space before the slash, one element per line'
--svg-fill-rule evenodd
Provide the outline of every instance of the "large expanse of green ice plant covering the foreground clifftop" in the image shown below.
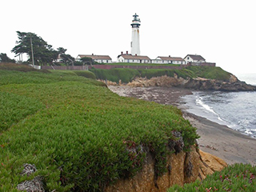
<path fill-rule="evenodd" d="M 2 191 L 38 175 L 50 191 L 102 190 L 137 173 L 146 153 L 160 175 L 177 135 L 182 150 L 198 138 L 174 106 L 119 97 L 73 71 L 23 71 L 0 66 Z M 37 171 L 21 175 L 26 163 Z"/>

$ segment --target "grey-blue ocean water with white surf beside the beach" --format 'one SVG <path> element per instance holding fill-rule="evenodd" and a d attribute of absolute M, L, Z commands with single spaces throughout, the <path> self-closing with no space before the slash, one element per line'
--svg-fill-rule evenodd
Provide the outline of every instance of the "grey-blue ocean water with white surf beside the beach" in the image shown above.
<path fill-rule="evenodd" d="M 256 74 L 236 76 L 256 86 Z M 182 100 L 188 112 L 256 138 L 256 91 L 193 91 Z"/>

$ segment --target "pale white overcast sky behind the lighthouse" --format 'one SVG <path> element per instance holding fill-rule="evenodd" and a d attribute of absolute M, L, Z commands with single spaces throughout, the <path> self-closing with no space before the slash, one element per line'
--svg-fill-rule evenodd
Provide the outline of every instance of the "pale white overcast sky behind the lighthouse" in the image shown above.
<path fill-rule="evenodd" d="M 8 0 L 0 2 L 0 53 L 10 58 L 16 31 L 78 54 L 130 53 L 132 15 L 141 19 L 140 50 L 150 58 L 200 54 L 233 74 L 256 73 L 254 0 Z"/>

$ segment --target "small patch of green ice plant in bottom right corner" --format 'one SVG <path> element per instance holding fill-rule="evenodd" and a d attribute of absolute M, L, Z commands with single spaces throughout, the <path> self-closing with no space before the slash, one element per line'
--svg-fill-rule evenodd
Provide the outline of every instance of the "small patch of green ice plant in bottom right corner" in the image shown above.
<path fill-rule="evenodd" d="M 234 164 L 220 172 L 207 176 L 202 182 L 196 181 L 184 186 L 173 186 L 168 192 L 210 192 L 210 191 L 255 191 L 256 167 Z"/>

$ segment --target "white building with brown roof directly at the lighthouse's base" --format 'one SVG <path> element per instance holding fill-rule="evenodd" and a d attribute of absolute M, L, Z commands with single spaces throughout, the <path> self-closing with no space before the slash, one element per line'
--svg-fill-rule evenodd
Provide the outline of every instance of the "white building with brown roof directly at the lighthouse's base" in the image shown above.
<path fill-rule="evenodd" d="M 147 56 L 128 54 L 126 51 L 126 54 L 118 55 L 118 62 L 150 63 L 151 59 Z"/>

